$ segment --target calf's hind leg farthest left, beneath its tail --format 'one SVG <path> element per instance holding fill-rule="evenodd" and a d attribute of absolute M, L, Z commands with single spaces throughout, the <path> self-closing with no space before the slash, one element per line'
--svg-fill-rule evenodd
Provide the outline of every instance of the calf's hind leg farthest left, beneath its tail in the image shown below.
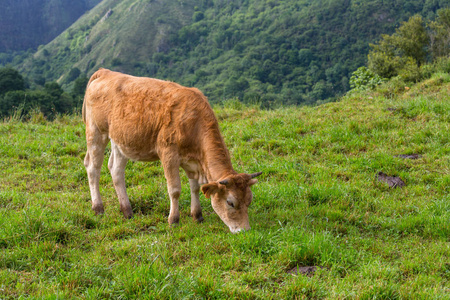
<path fill-rule="evenodd" d="M 100 196 L 100 172 L 103 164 L 103 157 L 106 145 L 108 144 L 108 136 L 101 134 L 98 130 L 86 130 L 87 151 L 84 158 L 84 166 L 89 179 L 89 189 L 91 191 L 92 210 L 95 214 L 103 214 L 104 208 L 102 198 Z"/>

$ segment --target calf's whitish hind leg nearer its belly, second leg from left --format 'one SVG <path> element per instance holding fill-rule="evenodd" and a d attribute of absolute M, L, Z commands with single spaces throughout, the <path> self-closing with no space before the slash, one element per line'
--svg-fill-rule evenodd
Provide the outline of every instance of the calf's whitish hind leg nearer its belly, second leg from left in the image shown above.
<path fill-rule="evenodd" d="M 130 200 L 127 195 L 127 188 L 125 186 L 125 167 L 127 166 L 128 158 L 120 151 L 119 147 L 111 141 L 111 156 L 108 161 L 108 169 L 113 179 L 114 188 L 116 189 L 117 197 L 119 198 L 120 210 L 125 218 L 133 216 Z"/>

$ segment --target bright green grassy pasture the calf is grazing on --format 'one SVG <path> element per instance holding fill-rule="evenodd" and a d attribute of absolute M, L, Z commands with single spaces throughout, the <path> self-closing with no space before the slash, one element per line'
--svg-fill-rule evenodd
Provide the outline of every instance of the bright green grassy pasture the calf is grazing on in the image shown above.
<path fill-rule="evenodd" d="M 450 293 L 450 76 L 317 107 L 217 108 L 238 171 L 263 171 L 252 230 L 169 228 L 159 163 L 129 163 L 135 217 L 106 160 L 90 211 L 80 117 L 0 124 L 0 298 L 444 299 Z M 395 110 L 394 110 L 395 109 Z M 417 160 L 394 157 L 419 153 Z M 390 189 L 383 171 L 407 184 Z M 323 266 L 313 277 L 287 272 Z M 53 296 L 51 296 L 53 295 Z"/>

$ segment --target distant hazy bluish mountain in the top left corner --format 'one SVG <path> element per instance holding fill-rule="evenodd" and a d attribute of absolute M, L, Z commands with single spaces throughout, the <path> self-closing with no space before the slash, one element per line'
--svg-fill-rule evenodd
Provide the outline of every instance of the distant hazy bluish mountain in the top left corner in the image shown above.
<path fill-rule="evenodd" d="M 47 44 L 101 0 L 2 0 L 0 52 Z"/>

